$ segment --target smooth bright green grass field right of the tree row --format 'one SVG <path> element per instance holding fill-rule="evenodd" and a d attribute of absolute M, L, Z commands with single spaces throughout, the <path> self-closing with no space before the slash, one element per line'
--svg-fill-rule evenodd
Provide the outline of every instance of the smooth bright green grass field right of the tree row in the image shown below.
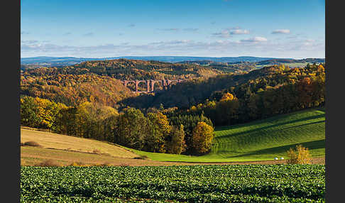
<path fill-rule="evenodd" d="M 172 155 L 132 150 L 151 160 L 184 162 L 231 162 L 288 158 L 286 151 L 302 144 L 313 158 L 325 155 L 324 109 L 308 109 L 273 116 L 247 124 L 215 129 L 212 150 L 207 155 Z"/>

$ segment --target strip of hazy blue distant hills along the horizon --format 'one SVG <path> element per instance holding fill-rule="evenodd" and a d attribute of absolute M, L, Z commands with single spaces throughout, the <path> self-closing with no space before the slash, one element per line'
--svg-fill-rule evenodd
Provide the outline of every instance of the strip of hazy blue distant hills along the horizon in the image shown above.
<path fill-rule="evenodd" d="M 188 56 L 122 56 L 122 57 L 22 57 L 21 70 L 38 67 L 64 67 L 88 61 L 106 60 L 144 60 L 150 62 L 170 62 L 188 65 L 212 66 L 221 72 L 236 72 L 236 70 L 251 71 L 269 65 L 288 65 L 288 67 L 304 67 L 307 63 L 325 62 L 324 58 L 273 58 L 273 57 L 188 57 Z"/>

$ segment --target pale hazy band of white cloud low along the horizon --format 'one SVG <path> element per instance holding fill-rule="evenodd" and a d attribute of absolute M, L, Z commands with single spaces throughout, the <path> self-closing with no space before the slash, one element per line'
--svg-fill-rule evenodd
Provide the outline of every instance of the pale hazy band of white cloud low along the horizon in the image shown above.
<path fill-rule="evenodd" d="M 190 56 L 240 56 L 253 55 L 261 57 L 324 57 L 324 43 L 307 40 L 289 42 L 267 40 L 263 37 L 243 40 L 166 40 L 135 45 L 119 43 L 77 46 L 56 45 L 43 41 L 28 40 L 21 42 L 21 57 L 39 55 L 75 56 L 75 57 L 116 57 L 125 55 L 190 55 Z"/>

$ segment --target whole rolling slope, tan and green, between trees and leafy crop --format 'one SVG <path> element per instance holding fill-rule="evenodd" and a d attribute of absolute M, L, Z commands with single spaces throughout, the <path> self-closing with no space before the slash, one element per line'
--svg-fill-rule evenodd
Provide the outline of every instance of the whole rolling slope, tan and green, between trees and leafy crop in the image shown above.
<path fill-rule="evenodd" d="M 212 150 L 202 156 L 149 153 L 22 127 L 21 142 L 35 141 L 42 148 L 21 147 L 21 163 L 33 165 L 53 159 L 64 164 L 73 161 L 113 165 L 243 164 L 248 161 L 272 161 L 275 157 L 286 159 L 286 151 L 299 143 L 310 149 L 313 158 L 322 160 L 325 155 L 324 121 L 324 109 L 308 109 L 248 124 L 216 128 Z M 146 155 L 148 160 L 135 159 L 139 155 Z"/>

